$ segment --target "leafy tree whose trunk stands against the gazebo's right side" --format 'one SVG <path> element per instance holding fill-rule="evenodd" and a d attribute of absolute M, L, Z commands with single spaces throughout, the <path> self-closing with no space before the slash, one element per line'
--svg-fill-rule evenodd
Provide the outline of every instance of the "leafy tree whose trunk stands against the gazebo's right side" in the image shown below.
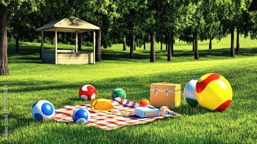
<path fill-rule="evenodd" d="M 78 0 L 79 1 L 79 0 Z M 114 43 L 115 39 L 112 38 L 112 30 L 115 27 L 114 22 L 116 19 L 120 17 L 120 13 L 117 12 L 118 5 L 121 3 L 119 1 L 87 1 L 87 11 L 83 13 L 84 9 L 81 9 L 82 15 L 87 17 L 89 22 L 96 24 L 100 27 L 98 31 L 98 40 L 96 46 L 96 61 L 102 61 L 101 58 L 101 43 L 103 43 L 103 47 L 111 47 L 112 43 Z M 88 3 L 90 5 L 88 5 Z M 81 3 L 78 3 L 80 7 Z M 91 17 L 87 15 L 87 13 L 92 13 Z M 104 27 L 104 28 L 103 28 Z"/>

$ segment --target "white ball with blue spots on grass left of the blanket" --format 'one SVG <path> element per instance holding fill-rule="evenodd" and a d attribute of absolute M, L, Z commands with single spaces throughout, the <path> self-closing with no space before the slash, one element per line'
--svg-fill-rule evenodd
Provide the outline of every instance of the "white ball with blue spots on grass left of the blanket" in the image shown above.
<path fill-rule="evenodd" d="M 35 120 L 49 120 L 53 118 L 55 110 L 51 102 L 39 100 L 33 104 L 31 113 Z"/>

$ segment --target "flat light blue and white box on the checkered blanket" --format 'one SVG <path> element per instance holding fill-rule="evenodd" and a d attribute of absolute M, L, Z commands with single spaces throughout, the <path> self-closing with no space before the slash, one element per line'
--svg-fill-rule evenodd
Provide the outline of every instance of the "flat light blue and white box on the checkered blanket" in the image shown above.
<path fill-rule="evenodd" d="M 159 109 L 155 107 L 148 106 L 148 107 L 135 107 L 134 108 L 134 115 L 139 117 L 156 117 L 159 116 Z"/>

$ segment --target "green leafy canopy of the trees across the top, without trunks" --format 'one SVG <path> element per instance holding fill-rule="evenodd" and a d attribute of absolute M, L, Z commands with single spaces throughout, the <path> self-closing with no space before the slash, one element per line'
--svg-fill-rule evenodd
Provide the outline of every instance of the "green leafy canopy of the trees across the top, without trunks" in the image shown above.
<path fill-rule="evenodd" d="M 11 3 L 12 2 L 12 3 Z M 19 20 L 26 31 L 32 31 L 31 35 L 24 35 L 24 40 L 35 35 L 34 28 L 43 26 L 49 22 L 61 20 L 71 15 L 79 17 L 89 23 L 102 27 L 102 45 L 123 43 L 124 35 L 130 41 L 128 34 L 133 29 L 134 39 L 137 45 L 150 42 L 149 32 L 156 29 L 156 41 L 166 43 L 168 32 L 174 33 L 174 38 L 182 41 L 192 41 L 192 33 L 198 31 L 199 40 L 207 40 L 210 37 L 222 39 L 229 29 L 237 29 L 247 37 L 256 37 L 255 14 L 252 0 L 247 1 L 1 1 L 10 6 L 10 13 L 15 16 L 17 9 L 24 8 L 24 17 Z M 12 18 L 11 18 L 12 19 Z M 11 20 L 10 19 L 10 20 Z M 24 22 L 22 22 L 24 21 Z M 17 24 L 17 21 L 13 22 Z M 10 25 L 9 27 L 13 27 Z M 11 29 L 11 28 L 10 28 Z M 24 28 L 23 28 L 24 29 Z M 14 33 L 13 33 L 14 32 Z M 15 38 L 17 32 L 9 32 Z M 23 32 L 20 32 L 23 33 Z M 19 34 L 22 35 L 22 34 Z M 21 36 L 20 36 L 21 37 Z M 51 35 L 45 35 L 51 38 Z M 129 42 L 127 42 L 130 45 Z"/>

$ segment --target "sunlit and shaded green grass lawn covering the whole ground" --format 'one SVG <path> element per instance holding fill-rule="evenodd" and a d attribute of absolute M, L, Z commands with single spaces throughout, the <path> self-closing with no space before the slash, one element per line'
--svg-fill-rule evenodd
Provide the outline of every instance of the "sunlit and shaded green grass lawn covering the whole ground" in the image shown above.
<path fill-rule="evenodd" d="M 51 45 L 44 44 L 51 48 Z M 74 47 L 60 44 L 59 48 Z M 137 47 L 135 59 L 129 59 L 129 47 L 102 49 L 102 62 L 95 65 L 42 64 L 39 43 L 8 43 L 10 75 L 1 76 L 0 143 L 257 143 L 257 40 L 241 38 L 241 50 L 230 57 L 230 39 L 199 42 L 199 60 L 194 60 L 191 44 L 174 45 L 172 62 L 167 51 L 155 45 L 156 62 L 150 63 L 150 44 Z M 84 50 L 90 50 L 83 47 Z M 163 45 L 165 49 L 165 45 Z M 183 99 L 183 88 L 193 78 L 218 73 L 230 82 L 233 98 L 223 112 L 192 109 Z M 115 88 L 123 88 L 127 99 L 150 99 L 150 84 L 181 84 L 181 105 L 174 109 L 178 118 L 164 118 L 146 124 L 124 126 L 104 131 L 86 125 L 34 121 L 31 107 L 45 99 L 56 109 L 64 105 L 91 103 L 78 98 L 83 84 L 94 85 L 97 98 L 110 99 Z M 8 85 L 8 141 L 4 140 L 4 85 Z"/>

